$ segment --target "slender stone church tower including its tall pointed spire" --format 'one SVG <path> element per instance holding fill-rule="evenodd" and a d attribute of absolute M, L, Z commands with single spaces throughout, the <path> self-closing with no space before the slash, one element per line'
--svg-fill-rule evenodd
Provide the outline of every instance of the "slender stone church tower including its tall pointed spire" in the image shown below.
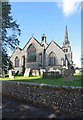
<path fill-rule="evenodd" d="M 69 38 L 68 38 L 67 26 L 65 27 L 64 42 L 63 42 L 62 49 L 65 52 L 69 62 L 72 64 L 72 51 L 71 51 L 70 41 L 69 41 Z"/>

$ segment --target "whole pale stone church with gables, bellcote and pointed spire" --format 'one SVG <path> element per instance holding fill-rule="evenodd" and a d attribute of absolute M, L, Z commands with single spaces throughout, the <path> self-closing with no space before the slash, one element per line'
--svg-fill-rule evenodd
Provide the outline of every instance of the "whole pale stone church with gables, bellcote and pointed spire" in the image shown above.
<path fill-rule="evenodd" d="M 23 49 L 16 47 L 10 57 L 14 70 L 19 73 L 23 73 L 26 68 L 48 71 L 50 68 L 61 69 L 73 63 L 67 26 L 62 47 L 55 41 L 51 41 L 50 44 L 46 41 L 45 34 L 41 37 L 41 43 L 32 35 Z"/>

